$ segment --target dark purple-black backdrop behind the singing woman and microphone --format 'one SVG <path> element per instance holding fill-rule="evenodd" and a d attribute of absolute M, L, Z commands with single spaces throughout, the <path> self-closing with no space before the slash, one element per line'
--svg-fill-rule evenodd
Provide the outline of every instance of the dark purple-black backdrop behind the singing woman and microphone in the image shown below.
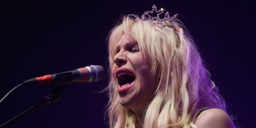
<path fill-rule="evenodd" d="M 256 126 L 255 4 L 215 0 L 162 2 L 119 0 L 2 0 L 0 2 L 0 98 L 22 81 L 88 65 L 108 68 L 106 37 L 122 14 L 153 4 L 179 14 L 238 127 Z M 8 128 L 107 128 L 99 82 L 73 84 L 56 103 Z M 0 103 L 0 124 L 39 102 L 50 87 L 19 87 Z M 106 118 L 107 119 L 107 118 Z"/>

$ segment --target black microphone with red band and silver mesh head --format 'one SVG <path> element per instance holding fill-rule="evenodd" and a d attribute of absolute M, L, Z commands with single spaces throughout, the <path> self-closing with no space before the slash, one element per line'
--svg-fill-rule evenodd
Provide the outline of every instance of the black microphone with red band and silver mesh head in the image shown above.
<path fill-rule="evenodd" d="M 104 68 L 100 65 L 90 65 L 76 70 L 25 80 L 25 86 L 37 85 L 70 85 L 73 82 L 95 82 L 105 77 Z"/>

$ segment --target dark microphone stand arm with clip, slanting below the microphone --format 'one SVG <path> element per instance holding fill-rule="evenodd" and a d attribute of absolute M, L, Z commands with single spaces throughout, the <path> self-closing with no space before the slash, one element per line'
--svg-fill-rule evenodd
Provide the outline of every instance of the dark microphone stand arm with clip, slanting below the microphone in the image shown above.
<path fill-rule="evenodd" d="M 41 102 L 39 102 L 38 104 L 36 104 L 35 106 L 32 106 L 30 108 L 28 108 L 27 110 L 23 111 L 22 113 L 20 113 L 19 115 L 16 115 L 15 117 L 13 117 L 12 119 L 6 121 L 4 124 L 2 124 L 0 126 L 0 128 L 4 128 L 7 125 L 13 123 L 14 121 L 16 121 L 17 119 L 20 119 L 21 117 L 24 117 L 25 115 L 32 113 L 33 111 L 37 110 L 38 108 L 40 108 L 41 106 L 45 105 L 45 104 L 53 104 L 54 102 L 56 102 L 57 100 L 59 100 L 61 98 L 61 95 L 65 89 L 67 85 L 62 85 L 62 86 L 52 86 L 51 85 L 51 89 L 52 92 L 49 93 L 48 95 L 44 96 L 43 100 Z"/>

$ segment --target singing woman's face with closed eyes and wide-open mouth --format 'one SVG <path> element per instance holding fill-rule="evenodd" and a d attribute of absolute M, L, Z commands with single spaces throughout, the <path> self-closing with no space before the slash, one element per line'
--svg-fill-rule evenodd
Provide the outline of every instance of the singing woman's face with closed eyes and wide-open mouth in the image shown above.
<path fill-rule="evenodd" d="M 126 34 L 114 47 L 112 74 L 121 105 L 133 111 L 145 108 L 156 90 L 150 64 L 143 58 L 138 43 Z"/>

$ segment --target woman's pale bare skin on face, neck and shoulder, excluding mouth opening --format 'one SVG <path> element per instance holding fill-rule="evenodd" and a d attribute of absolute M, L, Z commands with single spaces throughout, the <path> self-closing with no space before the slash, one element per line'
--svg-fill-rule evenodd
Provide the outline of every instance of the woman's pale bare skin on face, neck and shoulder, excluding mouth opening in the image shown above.
<path fill-rule="evenodd" d="M 150 65 L 143 59 L 138 44 L 128 35 L 124 34 L 118 44 L 115 45 L 116 54 L 112 74 L 117 83 L 119 70 L 129 72 L 135 77 L 131 87 L 125 91 L 119 91 L 120 103 L 131 109 L 137 115 L 137 123 L 142 127 L 143 111 L 145 106 L 152 100 L 154 76 L 150 74 Z M 130 85 L 129 85 L 130 86 Z M 221 109 L 213 108 L 203 111 L 194 122 L 197 128 L 235 128 L 228 114 Z"/>

